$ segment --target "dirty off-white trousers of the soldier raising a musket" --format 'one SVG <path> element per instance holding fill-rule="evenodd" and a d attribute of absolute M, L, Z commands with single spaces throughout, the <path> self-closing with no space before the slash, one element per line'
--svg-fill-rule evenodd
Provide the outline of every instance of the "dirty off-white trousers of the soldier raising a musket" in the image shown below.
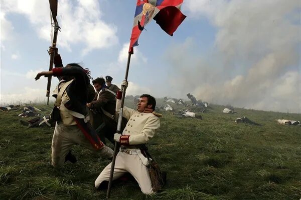
<path fill-rule="evenodd" d="M 65 157 L 74 144 L 80 144 L 93 151 L 96 150 L 77 125 L 64 125 L 61 122 L 56 123 L 51 144 L 52 165 L 60 166 L 64 164 Z M 105 158 L 113 156 L 113 150 L 106 145 L 97 151 Z"/>

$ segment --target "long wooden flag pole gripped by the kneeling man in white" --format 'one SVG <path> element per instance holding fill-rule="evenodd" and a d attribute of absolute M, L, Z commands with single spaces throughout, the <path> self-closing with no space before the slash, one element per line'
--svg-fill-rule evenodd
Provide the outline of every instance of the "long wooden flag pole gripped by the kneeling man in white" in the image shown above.
<path fill-rule="evenodd" d="M 125 77 L 124 77 L 124 79 L 126 81 L 127 81 L 127 76 L 128 76 L 129 62 L 130 62 L 131 54 L 132 53 L 129 52 L 128 56 L 127 56 L 127 64 L 126 64 Z M 124 105 L 124 98 L 125 98 L 125 90 L 126 90 L 126 87 L 123 87 L 122 97 L 121 97 L 121 106 L 120 106 L 120 112 L 119 112 L 118 123 L 117 123 L 117 131 L 116 131 L 117 133 L 120 133 L 120 134 L 121 134 L 121 121 L 122 121 L 122 112 L 123 112 L 123 105 Z M 111 186 L 112 186 L 113 174 L 114 174 L 114 167 L 115 167 L 115 161 L 116 161 L 116 154 L 117 154 L 117 150 L 118 150 L 117 146 L 118 146 L 118 143 L 117 143 L 117 141 L 115 141 L 113 159 L 112 159 L 112 162 L 111 162 L 111 170 L 110 170 L 108 189 L 107 189 L 107 193 L 106 193 L 107 198 L 110 197 L 110 192 L 111 192 Z"/>

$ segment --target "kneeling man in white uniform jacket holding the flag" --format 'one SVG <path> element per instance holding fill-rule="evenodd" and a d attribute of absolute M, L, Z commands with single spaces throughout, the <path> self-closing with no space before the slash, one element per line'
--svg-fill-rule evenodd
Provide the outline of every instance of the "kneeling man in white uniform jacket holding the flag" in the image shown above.
<path fill-rule="evenodd" d="M 124 80 L 121 88 L 127 86 Z M 116 111 L 120 111 L 122 91 L 117 92 Z M 145 194 L 155 193 L 150 180 L 144 144 L 152 138 L 155 131 L 160 127 L 159 116 L 154 112 L 156 99 L 149 94 L 142 94 L 137 103 L 137 109 L 123 107 L 122 116 L 128 119 L 122 135 L 114 134 L 114 140 L 120 143 L 120 151 L 116 155 L 113 180 L 129 172 L 138 182 L 140 189 Z M 147 152 L 148 153 L 148 152 Z M 96 188 L 103 188 L 110 176 L 111 163 L 108 164 L 95 180 Z M 102 184 L 101 184 L 102 183 Z"/>

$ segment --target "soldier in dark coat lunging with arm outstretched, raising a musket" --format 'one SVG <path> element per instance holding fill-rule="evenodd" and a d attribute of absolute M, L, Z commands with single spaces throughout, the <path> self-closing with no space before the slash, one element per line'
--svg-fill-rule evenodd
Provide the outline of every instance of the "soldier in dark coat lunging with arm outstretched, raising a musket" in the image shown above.
<path fill-rule="evenodd" d="M 51 47 L 50 53 L 55 53 L 56 67 L 51 71 L 39 72 L 35 79 L 38 80 L 43 75 L 57 76 L 60 79 L 53 94 L 56 102 L 52 119 L 57 122 L 51 144 L 52 165 L 58 167 L 66 160 L 70 160 L 68 156 L 70 157 L 70 149 L 74 144 L 98 150 L 102 157 L 111 158 L 113 150 L 99 139 L 89 122 L 89 111 L 86 106 L 90 84 L 89 70 L 77 63 L 61 67 L 63 63 L 60 55 L 57 54 L 57 48 Z"/>

